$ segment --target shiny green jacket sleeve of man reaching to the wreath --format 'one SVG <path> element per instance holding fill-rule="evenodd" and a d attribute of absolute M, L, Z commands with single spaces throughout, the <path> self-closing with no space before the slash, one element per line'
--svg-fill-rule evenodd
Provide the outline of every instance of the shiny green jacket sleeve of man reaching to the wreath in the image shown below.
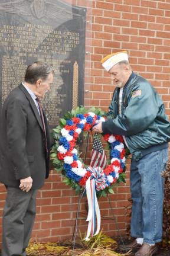
<path fill-rule="evenodd" d="M 103 133 L 117 135 L 134 135 L 145 130 L 155 120 L 158 113 L 156 91 L 149 82 L 141 81 L 133 88 L 133 92 L 141 90 L 141 95 L 132 97 L 123 115 L 102 123 Z M 160 99 L 161 100 L 161 99 Z"/>

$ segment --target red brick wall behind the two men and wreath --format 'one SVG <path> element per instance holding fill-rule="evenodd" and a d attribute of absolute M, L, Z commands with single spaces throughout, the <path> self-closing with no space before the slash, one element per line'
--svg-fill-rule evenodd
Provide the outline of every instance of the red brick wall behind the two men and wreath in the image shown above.
<path fill-rule="evenodd" d="M 112 99 L 113 85 L 100 65 L 100 59 L 119 49 L 129 52 L 133 71 L 151 81 L 165 102 L 169 115 L 169 59 L 170 59 L 170 1 L 169 0 L 67 0 L 74 5 L 87 7 L 86 85 L 84 103 L 107 110 Z M 90 7 L 93 7 L 91 9 Z M 90 40 L 91 37 L 91 40 Z M 91 68 L 91 70 L 90 70 Z M 129 166 L 129 165 L 128 165 Z M 115 187 L 107 199 L 100 199 L 102 216 L 115 216 L 120 232 L 125 234 L 127 218 L 125 206 L 129 198 L 129 178 L 126 185 Z M 5 189 L 0 185 L 0 216 L 5 200 Z M 57 241 L 71 238 L 74 229 L 79 197 L 64 185 L 60 174 L 52 171 L 44 187 L 38 192 L 37 217 L 32 237 L 40 241 Z M 82 200 L 81 212 L 86 208 Z M 85 217 L 80 215 L 79 229 L 86 231 Z M 115 220 L 102 219 L 104 232 L 117 236 Z"/>

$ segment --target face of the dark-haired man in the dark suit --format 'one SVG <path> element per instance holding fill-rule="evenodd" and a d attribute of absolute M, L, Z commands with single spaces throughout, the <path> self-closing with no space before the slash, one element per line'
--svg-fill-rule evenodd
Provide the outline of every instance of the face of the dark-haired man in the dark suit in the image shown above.
<path fill-rule="evenodd" d="M 47 76 L 47 79 L 45 80 L 41 80 L 39 79 L 37 81 L 38 85 L 37 85 L 37 96 L 38 98 L 44 98 L 45 96 L 45 92 L 49 91 L 50 89 L 50 85 L 53 83 L 53 73 L 50 73 Z"/>

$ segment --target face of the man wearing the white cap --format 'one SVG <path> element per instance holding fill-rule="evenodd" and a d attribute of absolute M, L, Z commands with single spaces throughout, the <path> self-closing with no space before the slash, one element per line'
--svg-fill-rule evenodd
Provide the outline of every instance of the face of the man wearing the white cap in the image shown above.
<path fill-rule="evenodd" d="M 129 78 L 129 72 L 127 66 L 124 64 L 116 64 L 109 71 L 111 79 L 116 87 L 124 87 Z"/>

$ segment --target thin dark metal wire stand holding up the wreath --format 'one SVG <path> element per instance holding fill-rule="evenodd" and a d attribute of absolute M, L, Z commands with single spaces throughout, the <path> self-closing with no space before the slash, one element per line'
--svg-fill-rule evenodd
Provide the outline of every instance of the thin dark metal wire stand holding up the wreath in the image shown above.
<path fill-rule="evenodd" d="M 88 145 L 88 143 L 89 143 L 89 133 L 90 133 L 90 132 L 88 132 L 88 135 L 87 135 L 86 148 L 85 148 L 85 154 L 84 154 L 84 162 L 86 161 L 87 145 Z M 92 132 L 91 132 L 91 135 L 92 135 L 92 137 L 93 137 Z M 83 215 L 83 213 L 80 213 L 80 203 L 81 203 L 81 200 L 82 200 L 82 198 L 83 198 L 85 192 L 86 192 L 86 188 L 84 188 L 84 190 L 81 191 L 81 193 L 80 193 L 80 195 L 79 195 L 79 203 L 78 203 L 78 207 L 77 207 L 76 220 L 75 220 L 74 231 L 73 231 L 73 236 L 72 236 L 72 240 L 71 240 L 71 241 L 73 242 L 73 253 L 74 253 L 75 244 L 76 244 L 76 235 L 79 235 L 79 234 L 78 234 L 78 231 L 77 231 L 77 228 L 78 228 L 78 221 L 80 220 L 79 215 Z M 110 201 L 110 198 L 109 198 L 109 194 L 108 194 L 108 193 L 107 193 L 107 200 L 109 201 L 109 205 L 110 205 L 110 209 L 112 210 L 113 218 L 112 218 L 112 217 L 101 216 L 101 219 L 109 219 L 109 220 L 115 221 L 116 229 L 117 229 L 117 231 L 118 231 L 118 233 L 119 233 L 120 241 L 122 242 L 122 245 L 125 246 L 125 244 L 124 244 L 124 242 L 123 242 L 122 235 L 121 235 L 121 233 L 120 233 L 119 225 L 118 225 L 118 223 L 117 223 L 115 214 L 114 214 L 114 212 L 113 212 L 113 207 L 112 207 L 112 204 L 111 204 L 111 201 Z"/>

